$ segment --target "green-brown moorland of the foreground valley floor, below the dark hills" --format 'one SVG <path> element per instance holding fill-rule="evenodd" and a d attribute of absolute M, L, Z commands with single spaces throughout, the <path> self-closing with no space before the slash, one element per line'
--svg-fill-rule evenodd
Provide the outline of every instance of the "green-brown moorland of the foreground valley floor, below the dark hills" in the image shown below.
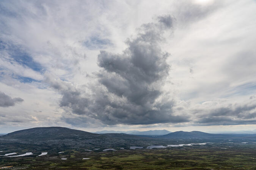
<path fill-rule="evenodd" d="M 48 153 L 40 157 L 1 157 L 0 167 L 49 170 L 256 169 L 256 144 L 226 144 L 221 147 L 213 144 L 117 151 L 66 150 L 64 153 Z"/>

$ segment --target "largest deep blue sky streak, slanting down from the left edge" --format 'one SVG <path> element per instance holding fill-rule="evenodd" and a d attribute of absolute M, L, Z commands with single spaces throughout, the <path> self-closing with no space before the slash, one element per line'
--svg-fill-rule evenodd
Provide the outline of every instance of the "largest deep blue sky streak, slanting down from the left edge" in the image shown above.
<path fill-rule="evenodd" d="M 40 63 L 35 62 L 28 53 L 17 45 L 0 40 L 0 52 L 1 51 L 5 51 L 9 54 L 10 63 L 17 62 L 22 66 L 27 66 L 28 68 L 40 73 L 44 70 Z"/>

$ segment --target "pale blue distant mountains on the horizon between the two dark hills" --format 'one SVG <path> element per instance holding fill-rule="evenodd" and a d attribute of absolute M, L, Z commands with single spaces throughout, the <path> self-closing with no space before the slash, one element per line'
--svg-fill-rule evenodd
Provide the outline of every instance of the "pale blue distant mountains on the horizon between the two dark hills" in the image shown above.
<path fill-rule="evenodd" d="M 161 136 L 161 135 L 165 135 L 165 134 L 171 133 L 171 131 L 168 131 L 168 130 L 148 130 L 148 131 L 138 131 L 138 130 L 132 130 L 132 131 L 103 130 L 103 131 L 96 131 L 94 133 L 97 133 L 97 134 L 104 134 L 104 133 L 126 133 L 126 134 L 135 134 L 135 135 Z"/>

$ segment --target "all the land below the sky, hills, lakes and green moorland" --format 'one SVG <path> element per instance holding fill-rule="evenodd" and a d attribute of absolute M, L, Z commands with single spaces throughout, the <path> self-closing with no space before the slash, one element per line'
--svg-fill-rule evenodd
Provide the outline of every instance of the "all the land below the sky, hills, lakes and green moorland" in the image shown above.
<path fill-rule="evenodd" d="M 150 137 L 35 128 L 1 136 L 0 151 L 3 169 L 256 169 L 254 134 Z"/>

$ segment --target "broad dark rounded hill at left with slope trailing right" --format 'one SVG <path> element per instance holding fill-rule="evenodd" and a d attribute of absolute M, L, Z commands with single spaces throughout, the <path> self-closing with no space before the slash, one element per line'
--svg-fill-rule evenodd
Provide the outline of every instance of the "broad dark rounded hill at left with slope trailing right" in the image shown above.
<path fill-rule="evenodd" d="M 136 140 L 134 140 L 136 139 Z M 137 140 L 138 139 L 138 140 Z M 126 147 L 138 144 L 144 139 L 130 134 L 94 134 L 64 127 L 38 127 L 14 131 L 0 136 L 2 148 L 108 148 Z"/>

